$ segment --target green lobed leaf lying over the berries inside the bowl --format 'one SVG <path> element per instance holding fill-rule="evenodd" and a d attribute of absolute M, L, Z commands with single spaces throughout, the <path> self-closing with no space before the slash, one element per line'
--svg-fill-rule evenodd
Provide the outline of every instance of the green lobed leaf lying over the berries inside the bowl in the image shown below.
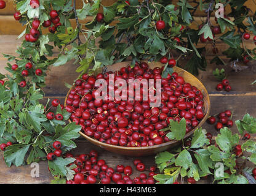
<path fill-rule="evenodd" d="M 171 132 L 166 136 L 171 140 L 183 140 L 186 134 L 186 119 L 182 118 L 180 122 L 170 120 L 169 124 Z"/>

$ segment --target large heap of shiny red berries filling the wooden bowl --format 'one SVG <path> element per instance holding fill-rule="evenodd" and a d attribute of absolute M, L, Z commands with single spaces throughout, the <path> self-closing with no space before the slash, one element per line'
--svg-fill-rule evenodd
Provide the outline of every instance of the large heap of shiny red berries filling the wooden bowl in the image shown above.
<path fill-rule="evenodd" d="M 79 124 L 86 135 L 98 141 L 130 147 L 153 146 L 169 141 L 167 132 L 161 129 L 168 127 L 170 120 L 180 121 L 185 118 L 186 132 L 190 132 L 205 115 L 202 92 L 185 83 L 184 78 L 176 72 L 162 78 L 162 70 L 163 67 L 150 69 L 146 62 L 142 62 L 96 77 L 82 75 L 81 79 L 75 81 L 74 89 L 66 99 L 65 108 L 71 113 L 71 121 Z M 110 100 L 110 95 L 106 95 L 105 100 L 95 99 L 95 81 L 101 78 L 108 83 L 110 74 L 114 74 L 114 81 L 124 79 L 127 83 L 129 79 L 162 79 L 161 106 L 151 108 L 150 103 L 155 100 L 150 100 L 150 97 L 142 100 L 144 89 L 141 89 L 140 100 Z M 116 89 L 114 87 L 114 91 Z M 135 86 L 132 91 L 135 91 Z"/>

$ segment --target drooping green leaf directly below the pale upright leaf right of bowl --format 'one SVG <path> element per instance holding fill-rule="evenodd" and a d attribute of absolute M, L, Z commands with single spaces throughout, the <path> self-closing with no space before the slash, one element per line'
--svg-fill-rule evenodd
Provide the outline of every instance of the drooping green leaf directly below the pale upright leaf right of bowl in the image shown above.
<path fill-rule="evenodd" d="M 210 159 L 210 152 L 207 149 L 198 149 L 194 153 L 198 165 L 204 173 L 210 173 L 209 168 L 214 168 L 214 162 Z"/>

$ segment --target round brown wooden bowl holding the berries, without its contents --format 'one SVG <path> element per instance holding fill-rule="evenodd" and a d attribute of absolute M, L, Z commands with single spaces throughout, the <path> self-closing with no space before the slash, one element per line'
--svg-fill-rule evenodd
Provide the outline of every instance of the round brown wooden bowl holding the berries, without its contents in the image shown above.
<path fill-rule="evenodd" d="M 117 64 L 113 64 L 112 66 L 107 66 L 106 71 L 114 72 L 114 71 L 120 69 L 121 67 L 127 67 L 129 65 L 130 65 L 130 61 L 119 62 Z M 161 64 L 160 62 L 151 62 L 151 63 L 148 63 L 148 66 L 151 69 L 153 69 L 154 67 L 162 67 L 163 64 Z M 204 85 L 202 85 L 201 81 L 199 81 L 198 78 L 194 77 L 194 75 L 190 74 L 186 70 L 183 70 L 179 67 L 174 67 L 174 72 L 177 72 L 178 75 L 182 76 L 184 78 L 185 82 L 190 83 L 191 85 L 196 86 L 196 88 L 200 89 L 204 96 L 204 98 L 203 98 L 204 112 L 206 113 L 206 115 L 204 116 L 204 118 L 200 121 L 200 123 L 197 126 L 197 127 L 201 127 L 202 124 L 204 124 L 204 122 L 206 121 L 207 116 L 209 116 L 209 112 L 210 112 L 209 94 L 206 91 L 206 88 L 204 87 Z M 73 88 L 74 88 L 74 86 L 73 86 Z M 71 88 L 71 89 L 73 89 L 73 88 Z M 71 91 L 71 89 L 70 89 L 70 91 Z M 68 91 L 68 94 L 70 94 L 70 91 Z M 66 96 L 66 99 L 68 98 L 68 94 Z M 65 99 L 65 107 L 66 107 L 66 99 Z M 190 137 L 197 127 L 195 127 L 193 130 L 188 132 L 188 134 L 185 135 L 185 138 Z M 181 143 L 181 141 L 171 140 L 171 141 L 162 143 L 161 145 L 146 146 L 146 147 L 124 147 L 124 146 L 115 146 L 115 145 L 109 145 L 106 143 L 102 143 L 98 140 L 95 140 L 94 138 L 87 136 L 86 134 L 84 134 L 82 132 L 79 132 L 79 133 L 84 138 L 86 138 L 91 143 L 93 143 L 94 145 L 100 146 L 101 148 L 104 148 L 107 151 L 111 151 L 113 153 L 122 154 L 122 155 L 126 155 L 126 156 L 135 156 L 135 157 L 153 155 L 153 154 L 156 154 L 156 153 L 159 153 L 162 151 L 166 151 L 167 149 L 173 148 Z"/>

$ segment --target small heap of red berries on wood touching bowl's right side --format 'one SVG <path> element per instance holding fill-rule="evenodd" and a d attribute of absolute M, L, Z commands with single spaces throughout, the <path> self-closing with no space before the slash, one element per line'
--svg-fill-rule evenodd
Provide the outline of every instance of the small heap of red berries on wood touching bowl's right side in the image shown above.
<path fill-rule="evenodd" d="M 221 113 L 218 114 L 218 122 L 216 123 L 216 118 L 215 116 L 210 116 L 208 119 L 207 119 L 207 123 L 209 124 L 215 124 L 215 128 L 217 130 L 220 130 L 223 128 L 223 126 L 226 126 L 226 127 L 233 127 L 233 121 L 230 119 L 232 113 L 230 110 L 226 110 L 226 111 L 223 111 Z"/>

